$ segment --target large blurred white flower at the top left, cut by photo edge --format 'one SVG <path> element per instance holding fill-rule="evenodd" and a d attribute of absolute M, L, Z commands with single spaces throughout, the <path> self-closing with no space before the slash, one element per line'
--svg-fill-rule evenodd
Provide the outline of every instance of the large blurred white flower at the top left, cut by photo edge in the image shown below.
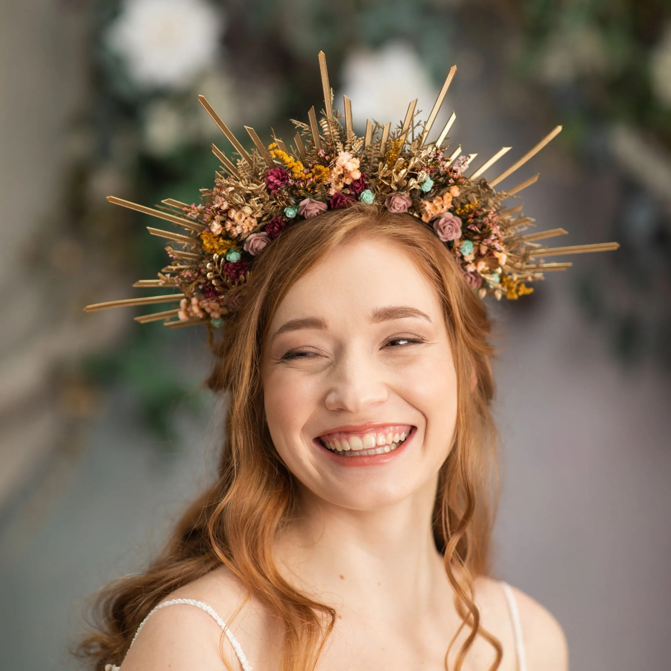
<path fill-rule="evenodd" d="M 222 30 L 206 0 L 125 0 L 107 37 L 138 85 L 180 89 L 214 62 Z"/>

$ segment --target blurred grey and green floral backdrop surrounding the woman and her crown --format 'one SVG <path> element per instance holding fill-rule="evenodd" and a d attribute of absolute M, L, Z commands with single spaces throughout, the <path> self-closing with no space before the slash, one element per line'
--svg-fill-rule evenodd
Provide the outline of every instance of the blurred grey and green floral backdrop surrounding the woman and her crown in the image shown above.
<path fill-rule="evenodd" d="M 211 474 L 204 333 L 84 315 L 164 265 L 107 195 L 197 201 L 225 122 L 288 139 L 321 105 L 456 111 L 452 146 L 564 132 L 525 213 L 580 256 L 497 321 L 495 574 L 558 618 L 574 671 L 668 668 L 671 7 L 666 0 L 7 0 L 0 5 L 0 670 L 76 668 L 101 584 L 140 570 Z M 340 104 L 342 107 L 342 103 Z M 439 124 L 440 125 L 440 124 Z M 513 159 L 514 160 L 514 159 Z M 562 244 L 563 241 L 562 241 Z M 145 293 L 147 290 L 144 290 Z M 164 331 L 168 331 L 167 333 Z"/>

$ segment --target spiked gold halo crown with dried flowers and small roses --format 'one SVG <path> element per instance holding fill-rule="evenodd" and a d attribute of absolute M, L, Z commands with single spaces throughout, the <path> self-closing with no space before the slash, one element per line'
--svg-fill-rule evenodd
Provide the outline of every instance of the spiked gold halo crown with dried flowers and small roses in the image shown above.
<path fill-rule="evenodd" d="M 495 187 L 525 164 L 562 130 L 557 126 L 541 142 L 492 180 L 482 174 L 511 148 L 503 147 L 466 175 L 476 154 L 463 155 L 461 147 L 448 151 L 444 142 L 455 120 L 452 112 L 435 142 L 427 139 L 456 66 L 450 72 L 424 123 L 415 121 L 412 101 L 405 119 L 394 130 L 391 123 L 366 121 L 363 137 L 354 133 L 352 106 L 344 97 L 344 115 L 333 112 L 326 59 L 319 52 L 324 106 L 309 123 L 293 121 L 297 129 L 289 150 L 274 137 L 266 146 L 246 126 L 254 149 L 248 152 L 219 118 L 205 97 L 199 101 L 234 147 L 228 158 L 212 151 L 221 162 L 213 189 L 201 189 L 199 205 L 173 199 L 158 209 L 108 197 L 111 203 L 176 224 L 184 233 L 148 227 L 150 234 L 170 241 L 170 263 L 158 279 L 140 280 L 134 287 L 175 287 L 180 293 L 109 301 L 88 305 L 95 311 L 127 305 L 179 303 L 179 307 L 135 317 L 136 321 L 163 321 L 168 327 L 206 323 L 220 327 L 226 315 L 240 308 L 254 259 L 291 223 L 318 217 L 328 209 L 353 201 L 382 205 L 391 212 L 407 212 L 431 227 L 454 254 L 466 282 L 481 298 L 517 299 L 531 293 L 528 282 L 544 273 L 566 270 L 570 262 L 546 262 L 546 257 L 617 249 L 617 243 L 546 248 L 540 240 L 567 233 L 562 228 L 524 233 L 533 219 L 521 214 L 522 205 L 505 209 L 503 201 L 535 183 L 538 175 L 507 191 Z M 344 128 L 342 119 L 344 118 Z"/>

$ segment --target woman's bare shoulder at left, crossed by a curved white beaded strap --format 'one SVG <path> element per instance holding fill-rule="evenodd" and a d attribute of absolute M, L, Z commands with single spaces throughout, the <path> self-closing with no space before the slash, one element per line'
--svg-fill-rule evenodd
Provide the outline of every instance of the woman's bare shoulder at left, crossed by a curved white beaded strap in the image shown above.
<path fill-rule="evenodd" d="M 227 570 L 217 569 L 172 592 L 162 603 L 189 599 L 209 606 L 258 666 L 271 654 L 274 636 L 264 609 Z M 257 662 L 255 664 L 255 662 Z M 215 619 L 199 607 L 177 604 L 150 617 L 128 652 L 121 671 L 225 671 L 240 662 Z"/>

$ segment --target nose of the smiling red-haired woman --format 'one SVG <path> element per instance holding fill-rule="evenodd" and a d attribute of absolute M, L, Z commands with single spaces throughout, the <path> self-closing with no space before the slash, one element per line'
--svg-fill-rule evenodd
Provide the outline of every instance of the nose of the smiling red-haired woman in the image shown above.
<path fill-rule="evenodd" d="M 342 356 L 331 369 L 329 389 L 325 397 L 328 410 L 359 413 L 380 405 L 389 398 L 380 371 L 370 357 L 350 353 Z"/>

